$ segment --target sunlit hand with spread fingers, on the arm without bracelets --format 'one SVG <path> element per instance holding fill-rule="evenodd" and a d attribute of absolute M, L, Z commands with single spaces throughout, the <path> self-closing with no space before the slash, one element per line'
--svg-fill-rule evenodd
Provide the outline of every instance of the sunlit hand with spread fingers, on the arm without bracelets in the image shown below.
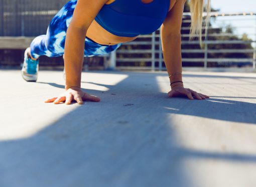
<path fill-rule="evenodd" d="M 53 102 L 54 104 L 65 102 L 66 104 L 71 104 L 72 100 L 77 101 L 78 104 L 83 104 L 83 100 L 99 102 L 100 98 L 83 92 L 80 87 L 70 87 L 60 96 L 50 98 L 45 102 Z"/>

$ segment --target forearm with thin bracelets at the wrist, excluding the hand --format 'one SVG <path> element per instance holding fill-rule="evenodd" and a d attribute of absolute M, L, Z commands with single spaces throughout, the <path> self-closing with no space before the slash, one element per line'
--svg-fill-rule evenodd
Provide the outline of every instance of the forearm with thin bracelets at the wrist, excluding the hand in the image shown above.
<path fill-rule="evenodd" d="M 180 34 L 163 34 L 162 48 L 164 61 L 167 68 L 168 75 L 182 72 L 182 58 L 181 58 L 181 35 Z M 174 74 L 170 77 L 170 82 L 182 81 L 182 74 Z M 182 82 L 172 84 L 182 85 Z"/>

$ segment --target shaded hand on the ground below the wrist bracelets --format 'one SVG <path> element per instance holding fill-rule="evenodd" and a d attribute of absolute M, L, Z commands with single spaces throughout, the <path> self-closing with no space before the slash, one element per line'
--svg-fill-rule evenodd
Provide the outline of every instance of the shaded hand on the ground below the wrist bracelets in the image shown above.
<path fill-rule="evenodd" d="M 209 98 L 208 95 L 198 93 L 192 89 L 184 88 L 182 86 L 175 86 L 172 88 L 171 91 L 168 92 L 169 97 L 176 97 L 176 96 L 182 96 L 185 95 L 189 99 L 194 99 L 193 96 L 195 96 L 198 100 L 202 100 L 205 98 Z"/>

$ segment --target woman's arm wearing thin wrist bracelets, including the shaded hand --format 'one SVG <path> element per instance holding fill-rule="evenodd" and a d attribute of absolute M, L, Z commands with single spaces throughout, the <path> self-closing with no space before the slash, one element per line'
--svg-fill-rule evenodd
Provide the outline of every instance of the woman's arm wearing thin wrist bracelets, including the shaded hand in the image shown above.
<path fill-rule="evenodd" d="M 182 72 L 181 59 L 181 23 L 184 4 L 186 0 L 176 0 L 173 8 L 168 12 L 163 24 L 161 25 L 161 38 L 164 61 L 169 76 L 172 73 Z M 171 76 L 172 90 L 168 93 L 170 97 L 186 95 L 188 98 L 205 99 L 209 96 L 197 93 L 196 91 L 184 88 L 182 81 L 182 74 L 175 74 Z M 192 96 L 193 95 L 193 96 Z"/>

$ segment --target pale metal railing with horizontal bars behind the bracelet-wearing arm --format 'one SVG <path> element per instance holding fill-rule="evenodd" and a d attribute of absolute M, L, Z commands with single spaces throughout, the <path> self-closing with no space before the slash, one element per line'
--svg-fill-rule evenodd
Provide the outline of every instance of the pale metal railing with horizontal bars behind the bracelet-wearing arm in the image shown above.
<path fill-rule="evenodd" d="M 243 40 L 239 38 L 239 34 L 235 33 L 215 33 L 214 30 L 222 30 L 222 27 L 216 26 L 205 26 L 203 27 L 203 48 L 199 47 L 198 40 L 188 40 L 189 37 L 189 26 L 182 26 L 181 36 L 182 36 L 182 62 L 186 63 L 189 66 L 196 63 L 200 63 L 199 66 L 203 68 L 208 68 L 209 64 L 214 63 L 215 65 L 221 66 L 224 63 L 228 63 L 229 66 L 238 64 L 250 65 L 253 69 L 256 66 L 256 13 L 220 13 L 220 12 L 211 12 L 211 17 L 219 16 L 233 16 L 238 18 L 239 21 L 246 21 L 248 17 L 250 20 L 253 20 L 253 25 L 246 26 L 236 26 L 237 28 L 247 28 L 251 29 L 253 33 L 249 33 L 248 37 L 251 39 Z M 212 18 L 211 18 L 212 19 Z M 235 20 L 235 19 L 232 19 Z M 190 14 L 184 13 L 183 24 L 190 24 Z M 164 59 L 162 54 L 162 45 L 161 45 L 161 35 L 160 31 L 148 35 L 141 35 L 136 40 L 131 42 L 126 42 L 122 44 L 122 47 L 118 48 L 111 54 L 110 57 L 110 66 L 112 68 L 119 69 L 149 69 L 149 70 L 165 70 Z M 225 37 L 225 39 L 221 39 Z M 215 38 L 215 39 L 212 39 Z M 229 39 L 230 38 L 230 39 Z M 146 40 L 144 40 L 146 39 Z M 125 47 L 123 47 L 125 46 Z M 140 49 L 136 49 L 140 46 Z M 194 47 L 193 47 L 194 46 Z M 242 46 L 242 47 L 241 47 Z M 128 49 L 132 48 L 132 49 Z M 220 57 L 211 57 L 214 54 L 222 54 Z M 133 55 L 134 54 L 134 55 Z M 192 57 L 193 54 L 196 57 Z M 139 56 L 138 56 L 139 55 Z M 200 57 L 198 57 L 198 55 Z M 231 56 L 230 56 L 231 55 Z M 125 57 L 126 56 L 126 57 Z M 131 66 L 131 63 L 135 64 Z M 149 65 L 151 63 L 151 65 Z M 128 65 L 126 65 L 128 64 Z M 130 65 L 129 65 L 130 64 Z M 141 65 L 143 64 L 143 65 Z M 145 65 L 148 64 L 148 65 Z M 227 65 L 228 66 L 228 65 Z"/>

